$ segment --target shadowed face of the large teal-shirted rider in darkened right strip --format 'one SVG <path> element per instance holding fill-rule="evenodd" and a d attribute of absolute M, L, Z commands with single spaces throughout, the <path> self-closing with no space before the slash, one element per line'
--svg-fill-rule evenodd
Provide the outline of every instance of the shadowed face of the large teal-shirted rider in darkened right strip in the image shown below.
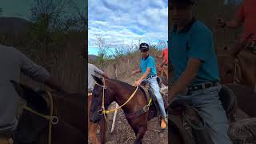
<path fill-rule="evenodd" d="M 192 6 L 185 2 L 171 2 L 169 9 L 175 26 L 186 26 L 192 17 Z"/>

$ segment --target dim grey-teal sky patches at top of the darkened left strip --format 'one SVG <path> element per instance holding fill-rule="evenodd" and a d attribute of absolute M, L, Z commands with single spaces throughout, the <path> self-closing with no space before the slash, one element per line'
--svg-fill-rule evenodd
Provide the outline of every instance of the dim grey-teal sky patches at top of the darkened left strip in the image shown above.
<path fill-rule="evenodd" d="M 4 17 L 18 17 L 30 20 L 30 6 L 35 0 L 0 0 Z M 85 0 L 74 0 L 78 7 L 85 9 Z"/>

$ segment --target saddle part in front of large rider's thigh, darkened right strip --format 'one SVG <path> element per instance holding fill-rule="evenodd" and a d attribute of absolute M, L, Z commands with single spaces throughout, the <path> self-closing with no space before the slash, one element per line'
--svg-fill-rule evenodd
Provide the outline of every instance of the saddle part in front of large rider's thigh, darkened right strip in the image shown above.
<path fill-rule="evenodd" d="M 213 144 L 205 123 L 193 106 L 185 100 L 175 100 L 168 116 L 170 129 L 178 131 L 185 144 Z M 170 138 L 172 139 L 172 138 Z M 170 140 L 171 141 L 171 140 Z"/>

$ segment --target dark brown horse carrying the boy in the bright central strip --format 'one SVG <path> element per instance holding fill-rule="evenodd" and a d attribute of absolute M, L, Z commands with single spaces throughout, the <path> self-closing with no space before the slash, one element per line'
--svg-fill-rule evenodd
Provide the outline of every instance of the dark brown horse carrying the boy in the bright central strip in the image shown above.
<path fill-rule="evenodd" d="M 98 114 L 98 110 L 102 109 L 102 86 L 104 84 L 102 82 L 102 78 L 98 78 L 95 76 L 93 76 L 93 78 L 98 83 L 98 85 L 101 86 L 94 86 L 94 98 L 90 106 L 90 121 L 99 122 L 103 118 L 102 115 Z M 104 90 L 104 105 L 106 108 L 110 105 L 110 103 L 114 101 L 117 102 L 119 106 L 121 106 L 123 103 L 127 101 L 128 98 L 130 98 L 130 95 L 134 93 L 134 90 L 136 90 L 135 86 L 130 86 L 126 82 L 121 82 L 114 79 L 106 79 L 105 86 L 106 89 Z M 139 110 L 142 110 L 142 107 L 146 106 L 146 104 L 148 104 L 146 100 L 146 95 L 141 89 L 138 89 L 136 94 L 134 95 L 134 98 L 130 99 L 130 102 L 126 103 L 125 106 L 122 106 L 122 110 L 125 114 L 136 114 Z M 147 122 L 156 116 L 157 114 L 155 107 L 150 106 L 150 109 L 146 111 L 146 113 L 138 117 L 126 117 L 128 123 L 130 124 L 136 135 L 136 140 L 134 143 L 142 143 L 142 138 L 147 130 Z"/>

